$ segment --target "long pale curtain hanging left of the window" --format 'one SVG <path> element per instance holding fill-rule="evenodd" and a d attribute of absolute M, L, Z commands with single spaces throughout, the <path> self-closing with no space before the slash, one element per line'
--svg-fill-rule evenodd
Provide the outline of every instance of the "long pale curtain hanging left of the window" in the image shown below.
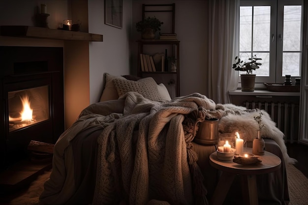
<path fill-rule="evenodd" d="M 208 97 L 230 103 L 229 90 L 238 86 L 239 72 L 232 69 L 239 54 L 240 0 L 208 0 Z"/>

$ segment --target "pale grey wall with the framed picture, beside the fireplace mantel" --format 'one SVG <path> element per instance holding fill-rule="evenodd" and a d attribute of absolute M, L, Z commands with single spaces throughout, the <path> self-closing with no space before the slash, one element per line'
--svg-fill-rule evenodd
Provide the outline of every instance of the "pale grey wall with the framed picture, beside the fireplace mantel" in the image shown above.
<path fill-rule="evenodd" d="M 104 0 L 89 0 L 89 32 L 103 34 L 103 42 L 90 42 L 90 103 L 100 98 L 104 72 L 129 74 L 131 1 L 123 0 L 123 28 L 118 29 L 104 24 Z"/>

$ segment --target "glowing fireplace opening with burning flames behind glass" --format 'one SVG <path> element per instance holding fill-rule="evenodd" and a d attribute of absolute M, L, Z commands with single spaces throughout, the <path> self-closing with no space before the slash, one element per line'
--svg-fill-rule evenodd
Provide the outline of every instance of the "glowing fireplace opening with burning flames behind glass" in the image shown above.
<path fill-rule="evenodd" d="M 48 86 L 8 92 L 9 132 L 50 119 Z"/>

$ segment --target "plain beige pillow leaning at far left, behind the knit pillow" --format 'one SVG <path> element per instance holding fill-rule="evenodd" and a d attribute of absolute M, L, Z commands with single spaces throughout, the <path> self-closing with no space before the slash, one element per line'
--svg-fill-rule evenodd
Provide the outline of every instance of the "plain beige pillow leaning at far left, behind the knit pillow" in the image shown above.
<path fill-rule="evenodd" d="M 122 76 L 114 76 L 109 73 L 104 73 L 103 93 L 100 96 L 99 102 L 117 100 L 119 98 L 118 91 L 113 83 L 113 79 L 125 80 Z"/>

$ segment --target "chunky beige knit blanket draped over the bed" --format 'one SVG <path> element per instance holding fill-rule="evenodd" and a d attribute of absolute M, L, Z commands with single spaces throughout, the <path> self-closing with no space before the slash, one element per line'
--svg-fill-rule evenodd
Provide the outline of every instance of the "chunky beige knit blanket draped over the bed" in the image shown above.
<path fill-rule="evenodd" d="M 205 118 L 259 114 L 216 104 L 198 93 L 166 102 L 150 101 L 136 92 L 122 98 L 123 117 L 106 127 L 98 139 L 93 205 L 117 204 L 121 199 L 134 205 L 208 204 L 198 158 L 191 149 L 193 124 Z"/>

